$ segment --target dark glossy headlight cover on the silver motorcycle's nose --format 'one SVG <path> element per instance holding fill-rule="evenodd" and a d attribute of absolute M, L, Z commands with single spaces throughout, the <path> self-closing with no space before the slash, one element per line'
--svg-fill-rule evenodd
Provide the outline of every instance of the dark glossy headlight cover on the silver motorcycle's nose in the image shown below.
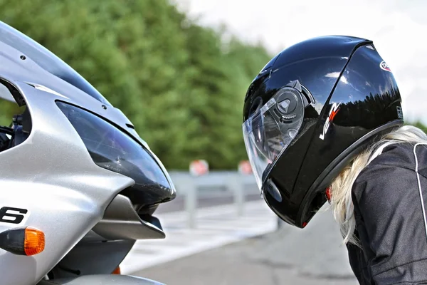
<path fill-rule="evenodd" d="M 135 180 L 137 190 L 146 192 L 144 204 L 163 202 L 175 195 L 172 182 L 169 183 L 157 160 L 136 140 L 97 115 L 66 103 L 57 105 L 80 135 L 93 161 Z"/>

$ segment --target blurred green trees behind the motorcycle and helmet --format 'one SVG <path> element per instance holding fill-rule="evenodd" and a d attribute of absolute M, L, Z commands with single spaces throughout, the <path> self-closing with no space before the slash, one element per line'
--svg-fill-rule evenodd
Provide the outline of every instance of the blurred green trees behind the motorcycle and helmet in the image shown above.
<path fill-rule="evenodd" d="M 0 20 L 92 83 L 166 167 L 205 159 L 236 169 L 247 159 L 243 97 L 272 57 L 263 46 L 225 42 L 167 0 L 0 0 Z M 1 122 L 14 112 L 1 103 Z"/>

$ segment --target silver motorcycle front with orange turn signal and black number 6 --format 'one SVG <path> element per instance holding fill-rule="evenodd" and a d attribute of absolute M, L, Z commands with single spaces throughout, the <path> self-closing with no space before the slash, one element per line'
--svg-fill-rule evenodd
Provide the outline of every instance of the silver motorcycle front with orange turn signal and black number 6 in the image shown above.
<path fill-rule="evenodd" d="M 132 122 L 1 22 L 0 83 L 20 107 L 0 127 L 0 283 L 159 284 L 117 274 L 136 240 L 165 237 L 153 213 L 176 196 Z"/>

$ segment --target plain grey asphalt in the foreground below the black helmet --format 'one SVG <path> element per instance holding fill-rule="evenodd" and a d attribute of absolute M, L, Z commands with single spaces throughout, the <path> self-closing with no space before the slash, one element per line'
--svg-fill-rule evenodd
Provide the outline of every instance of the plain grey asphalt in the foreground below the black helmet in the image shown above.
<path fill-rule="evenodd" d="M 277 232 L 139 271 L 137 276 L 174 285 L 356 285 L 330 212 L 305 229 Z"/>

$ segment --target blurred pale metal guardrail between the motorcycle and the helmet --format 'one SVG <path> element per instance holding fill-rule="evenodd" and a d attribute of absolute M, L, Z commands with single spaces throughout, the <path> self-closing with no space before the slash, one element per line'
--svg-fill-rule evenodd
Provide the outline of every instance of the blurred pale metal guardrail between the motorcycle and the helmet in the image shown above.
<path fill-rule="evenodd" d="M 214 194 L 215 192 L 231 192 L 233 203 L 236 205 L 238 216 L 244 213 L 246 195 L 258 192 L 255 177 L 253 175 L 242 175 L 239 172 L 209 172 L 207 175 L 194 177 L 189 172 L 169 172 L 174 182 L 178 195 L 185 195 L 185 211 L 188 214 L 188 227 L 196 228 L 197 197 Z"/>

